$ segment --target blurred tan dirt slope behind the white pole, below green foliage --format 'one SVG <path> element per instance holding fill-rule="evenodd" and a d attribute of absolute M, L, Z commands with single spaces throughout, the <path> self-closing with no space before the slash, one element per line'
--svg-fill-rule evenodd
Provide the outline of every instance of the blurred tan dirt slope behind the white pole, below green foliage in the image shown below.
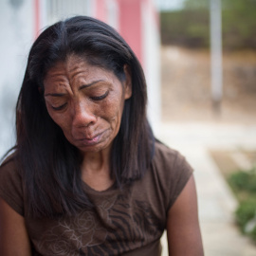
<path fill-rule="evenodd" d="M 256 52 L 223 55 L 223 100 L 212 107 L 210 52 L 161 48 L 162 120 L 256 123 Z"/>

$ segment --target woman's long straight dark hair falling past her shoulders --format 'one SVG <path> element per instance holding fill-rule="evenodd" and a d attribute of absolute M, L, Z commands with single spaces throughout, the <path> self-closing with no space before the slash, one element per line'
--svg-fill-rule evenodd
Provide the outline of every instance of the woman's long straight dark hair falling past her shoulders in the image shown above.
<path fill-rule="evenodd" d="M 154 137 L 146 119 L 146 82 L 132 49 L 115 29 L 99 20 L 76 16 L 58 22 L 46 28 L 30 49 L 16 107 L 16 158 L 31 217 L 93 207 L 82 189 L 78 149 L 49 117 L 44 100 L 46 72 L 70 54 L 113 71 L 120 81 L 125 78 L 124 64 L 131 69 L 133 94 L 125 101 L 110 156 L 116 186 L 141 178 L 152 160 Z"/>

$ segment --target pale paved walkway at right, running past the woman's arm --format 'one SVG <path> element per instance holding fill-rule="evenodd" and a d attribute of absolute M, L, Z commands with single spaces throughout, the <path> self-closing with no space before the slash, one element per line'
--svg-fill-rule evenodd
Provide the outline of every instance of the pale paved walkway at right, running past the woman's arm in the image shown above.
<path fill-rule="evenodd" d="M 209 149 L 256 149 L 256 126 L 163 123 L 156 137 L 185 155 L 194 168 L 206 256 L 256 256 L 256 246 L 234 225 L 237 202 Z M 163 256 L 168 255 L 163 238 Z M 188 255 L 190 256 L 190 255 Z"/>

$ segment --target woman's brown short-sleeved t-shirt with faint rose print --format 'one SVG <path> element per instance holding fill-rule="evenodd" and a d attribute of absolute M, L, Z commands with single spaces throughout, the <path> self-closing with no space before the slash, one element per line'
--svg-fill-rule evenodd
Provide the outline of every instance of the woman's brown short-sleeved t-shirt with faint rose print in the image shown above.
<path fill-rule="evenodd" d="M 182 155 L 155 142 L 151 168 L 133 185 L 97 192 L 84 184 L 95 210 L 58 219 L 28 218 L 22 176 L 11 159 L 0 168 L 0 196 L 25 217 L 33 255 L 157 256 L 167 212 L 191 174 Z"/>

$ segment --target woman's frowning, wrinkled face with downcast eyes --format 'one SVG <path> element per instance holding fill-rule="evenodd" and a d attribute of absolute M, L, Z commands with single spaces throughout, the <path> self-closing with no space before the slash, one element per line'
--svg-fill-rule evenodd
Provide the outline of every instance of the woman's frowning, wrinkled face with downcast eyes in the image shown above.
<path fill-rule="evenodd" d="M 119 132 L 124 101 L 132 95 L 131 76 L 126 80 L 71 55 L 46 74 L 46 108 L 66 139 L 82 152 L 108 148 Z"/>

